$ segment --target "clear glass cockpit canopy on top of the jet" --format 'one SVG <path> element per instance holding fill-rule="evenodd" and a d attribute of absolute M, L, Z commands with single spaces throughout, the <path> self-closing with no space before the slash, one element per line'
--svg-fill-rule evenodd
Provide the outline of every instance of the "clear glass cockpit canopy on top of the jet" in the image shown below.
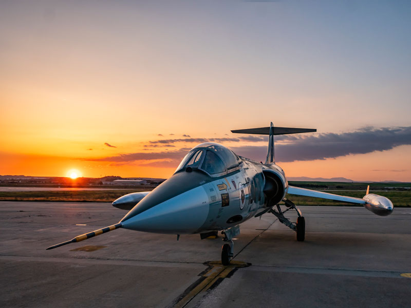
<path fill-rule="evenodd" d="M 211 176 L 219 176 L 238 167 L 241 160 L 228 148 L 212 142 L 194 147 L 183 158 L 177 171 L 187 167 L 206 171 Z"/>

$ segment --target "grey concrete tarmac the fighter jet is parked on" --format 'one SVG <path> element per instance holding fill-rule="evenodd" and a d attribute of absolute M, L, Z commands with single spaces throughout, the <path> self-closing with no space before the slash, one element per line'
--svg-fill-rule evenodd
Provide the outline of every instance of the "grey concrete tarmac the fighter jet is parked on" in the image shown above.
<path fill-rule="evenodd" d="M 300 209 L 305 242 L 266 214 L 240 225 L 234 265 L 225 267 L 207 263 L 220 260 L 221 236 L 176 241 L 120 228 L 46 251 L 115 224 L 126 211 L 110 203 L 0 202 L 0 306 L 410 305 L 410 208 L 388 217 L 363 207 Z"/>

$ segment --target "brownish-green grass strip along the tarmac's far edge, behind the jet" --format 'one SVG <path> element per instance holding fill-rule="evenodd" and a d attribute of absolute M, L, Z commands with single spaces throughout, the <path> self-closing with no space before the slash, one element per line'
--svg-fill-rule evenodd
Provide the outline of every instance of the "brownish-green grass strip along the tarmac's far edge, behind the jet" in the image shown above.
<path fill-rule="evenodd" d="M 144 188 L 115 190 L 62 190 L 62 191 L 0 191 L 0 201 L 71 201 L 71 202 L 113 202 L 130 192 L 147 191 Z M 362 198 L 362 190 L 326 190 L 332 194 Z M 373 192 L 373 191 L 371 191 Z M 387 197 L 396 207 L 411 207 L 411 191 L 375 191 L 376 194 Z M 332 200 L 287 195 L 296 205 L 347 205 L 347 203 Z M 361 205 L 359 205 L 361 206 Z"/>

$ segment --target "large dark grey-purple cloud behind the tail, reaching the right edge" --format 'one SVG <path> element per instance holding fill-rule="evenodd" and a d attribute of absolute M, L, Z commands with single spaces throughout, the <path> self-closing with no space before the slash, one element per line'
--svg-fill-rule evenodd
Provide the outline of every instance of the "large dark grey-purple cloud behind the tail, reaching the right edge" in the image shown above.
<path fill-rule="evenodd" d="M 411 144 L 410 127 L 364 127 L 353 132 L 323 133 L 317 136 L 282 138 L 288 143 L 275 145 L 275 159 L 280 162 L 324 160 L 350 154 L 364 154 L 389 150 Z M 277 137 L 275 137 L 277 140 Z M 267 155 L 267 147 L 232 147 L 238 155 L 261 160 Z M 248 155 L 248 156 L 247 156 Z"/>

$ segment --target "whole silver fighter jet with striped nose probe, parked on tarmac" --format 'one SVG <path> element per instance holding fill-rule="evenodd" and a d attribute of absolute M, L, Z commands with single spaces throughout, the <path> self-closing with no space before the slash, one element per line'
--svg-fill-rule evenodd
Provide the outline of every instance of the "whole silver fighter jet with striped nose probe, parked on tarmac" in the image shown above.
<path fill-rule="evenodd" d="M 109 232 L 117 228 L 176 234 L 200 234 L 201 239 L 221 232 L 225 244 L 221 263 L 228 265 L 234 256 L 233 238 L 239 225 L 252 217 L 271 213 L 278 221 L 296 232 L 297 241 L 305 239 L 305 219 L 286 195 L 308 196 L 362 204 L 380 216 L 393 212 L 393 203 L 379 195 L 353 198 L 328 194 L 288 185 L 284 170 L 275 164 L 274 136 L 315 132 L 316 129 L 269 127 L 232 130 L 233 133 L 269 135 L 265 163 L 236 155 L 229 148 L 206 142 L 195 146 L 183 158 L 173 176 L 152 191 L 135 192 L 120 197 L 113 206 L 129 210 L 119 223 L 95 230 L 53 245 L 53 249 L 69 243 Z M 279 202 L 285 203 L 285 210 Z M 297 221 L 285 217 L 288 210 L 297 212 Z"/>

